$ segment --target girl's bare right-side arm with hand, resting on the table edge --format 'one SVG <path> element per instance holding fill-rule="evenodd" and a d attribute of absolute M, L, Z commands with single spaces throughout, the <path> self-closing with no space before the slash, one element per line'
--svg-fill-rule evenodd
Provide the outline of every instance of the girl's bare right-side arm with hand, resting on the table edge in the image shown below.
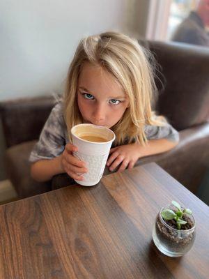
<path fill-rule="evenodd" d="M 107 160 L 107 166 L 110 171 L 113 171 L 120 164 L 119 172 L 126 167 L 132 169 L 139 158 L 169 151 L 177 144 L 178 142 L 161 139 L 149 140 L 145 146 L 137 143 L 117 146 L 110 150 L 111 156 Z"/>

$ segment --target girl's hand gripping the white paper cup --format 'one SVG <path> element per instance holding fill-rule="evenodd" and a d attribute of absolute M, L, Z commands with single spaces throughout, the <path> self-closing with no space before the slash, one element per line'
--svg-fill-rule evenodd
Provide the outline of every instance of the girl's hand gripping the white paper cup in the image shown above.
<path fill-rule="evenodd" d="M 65 150 L 61 154 L 61 168 L 63 172 L 66 172 L 72 179 L 79 181 L 83 180 L 85 172 L 88 172 L 86 169 L 86 164 L 72 155 L 72 152 L 76 152 L 77 147 L 72 144 L 66 144 Z"/>

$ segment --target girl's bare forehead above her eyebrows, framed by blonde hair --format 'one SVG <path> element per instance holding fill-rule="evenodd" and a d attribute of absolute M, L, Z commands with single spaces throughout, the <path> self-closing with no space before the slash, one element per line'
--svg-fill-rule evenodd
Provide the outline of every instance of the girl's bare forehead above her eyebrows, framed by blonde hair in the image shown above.
<path fill-rule="evenodd" d="M 85 62 L 79 74 L 78 86 L 82 86 L 89 91 L 109 91 L 111 93 L 121 93 L 125 96 L 123 87 L 116 77 L 109 73 L 104 67 Z"/>

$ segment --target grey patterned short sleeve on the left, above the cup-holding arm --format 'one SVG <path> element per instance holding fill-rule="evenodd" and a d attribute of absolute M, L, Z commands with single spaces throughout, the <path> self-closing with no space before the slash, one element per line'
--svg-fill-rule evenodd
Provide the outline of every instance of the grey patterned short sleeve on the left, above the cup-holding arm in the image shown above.
<path fill-rule="evenodd" d="M 65 149 L 65 121 L 62 102 L 57 103 L 49 114 L 40 137 L 29 157 L 29 162 L 52 159 Z"/>

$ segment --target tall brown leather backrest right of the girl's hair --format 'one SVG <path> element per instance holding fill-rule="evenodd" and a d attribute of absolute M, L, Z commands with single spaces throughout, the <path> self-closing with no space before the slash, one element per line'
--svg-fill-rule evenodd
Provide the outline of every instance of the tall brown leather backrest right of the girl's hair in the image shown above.
<path fill-rule="evenodd" d="M 143 43 L 143 45 L 145 45 Z M 148 41 L 164 82 L 156 80 L 160 95 L 157 111 L 183 130 L 209 120 L 209 48 L 183 43 Z"/>

